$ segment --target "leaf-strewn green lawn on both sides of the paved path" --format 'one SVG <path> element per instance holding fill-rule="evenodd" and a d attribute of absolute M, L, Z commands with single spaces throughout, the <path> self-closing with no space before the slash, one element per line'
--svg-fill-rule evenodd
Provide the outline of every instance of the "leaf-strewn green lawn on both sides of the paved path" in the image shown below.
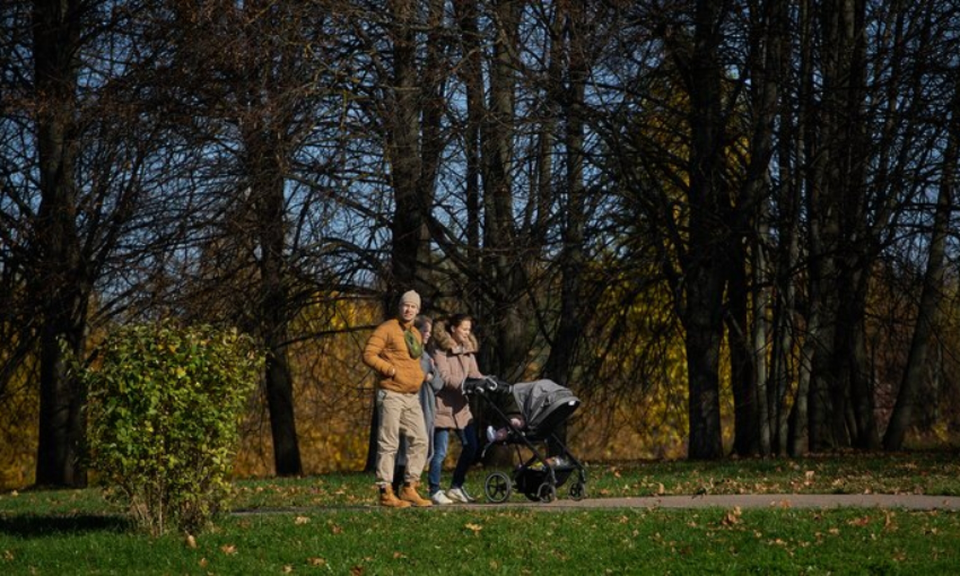
<path fill-rule="evenodd" d="M 623 463 L 593 497 L 656 493 L 960 493 L 955 455 Z M 470 475 L 482 492 L 484 470 Z M 955 574 L 960 515 L 902 510 L 385 511 L 369 474 L 238 483 L 233 515 L 198 535 L 132 534 L 99 492 L 0 494 L 6 574 Z M 662 488 L 661 488 L 662 487 Z M 561 497 L 566 497 L 564 491 Z M 517 501 L 525 498 L 514 496 Z M 314 508 L 327 506 L 328 508 Z"/>

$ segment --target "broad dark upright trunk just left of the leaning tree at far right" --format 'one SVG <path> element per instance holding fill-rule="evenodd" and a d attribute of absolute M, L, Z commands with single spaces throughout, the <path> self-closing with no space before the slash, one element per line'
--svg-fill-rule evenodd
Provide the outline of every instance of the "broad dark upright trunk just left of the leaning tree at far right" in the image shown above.
<path fill-rule="evenodd" d="M 847 425 L 852 395 L 856 298 L 869 258 L 866 239 L 862 132 L 863 11 L 861 0 L 820 5 L 823 101 L 810 116 L 820 137 L 810 187 L 811 306 L 820 326 L 813 358 L 810 442 L 813 449 L 847 446 L 856 431 Z M 813 111 L 813 110 L 811 110 Z"/>

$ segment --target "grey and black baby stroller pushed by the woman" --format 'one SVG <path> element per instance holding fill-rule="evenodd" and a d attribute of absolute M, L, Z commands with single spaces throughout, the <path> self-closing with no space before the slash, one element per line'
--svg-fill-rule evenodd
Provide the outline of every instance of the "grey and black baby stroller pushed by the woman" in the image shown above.
<path fill-rule="evenodd" d="M 468 378 L 464 382 L 464 394 L 484 398 L 486 406 L 507 428 L 503 440 L 494 444 L 510 444 L 516 447 L 516 468 L 513 475 L 492 472 L 484 481 L 484 492 L 491 502 L 504 502 L 514 489 L 530 500 L 552 502 L 557 498 L 557 489 L 576 473 L 570 484 L 570 497 L 581 500 L 587 495 L 587 474 L 583 465 L 570 453 L 554 434 L 554 430 L 580 406 L 580 398 L 568 388 L 552 380 L 518 382 L 510 385 L 493 376 Z M 511 414 L 521 417 L 516 426 Z M 545 446 L 552 442 L 561 452 L 547 458 Z M 520 448 L 526 446 L 533 454 L 524 458 Z"/>

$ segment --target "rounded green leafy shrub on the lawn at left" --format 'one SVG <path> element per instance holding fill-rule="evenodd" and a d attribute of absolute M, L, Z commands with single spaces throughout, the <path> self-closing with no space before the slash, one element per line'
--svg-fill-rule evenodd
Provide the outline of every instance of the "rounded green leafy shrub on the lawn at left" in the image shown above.
<path fill-rule="evenodd" d="M 139 527 L 195 532 L 224 507 L 262 367 L 249 337 L 210 326 L 130 325 L 101 345 L 82 372 L 90 466 Z"/>

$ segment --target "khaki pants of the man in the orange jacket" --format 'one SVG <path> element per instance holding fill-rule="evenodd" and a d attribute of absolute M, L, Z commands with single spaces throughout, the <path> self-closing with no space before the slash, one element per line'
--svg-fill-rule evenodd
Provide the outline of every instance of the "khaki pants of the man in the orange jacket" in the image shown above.
<path fill-rule="evenodd" d="M 400 444 L 401 434 L 407 437 L 407 470 L 403 480 L 420 482 L 429 442 L 420 395 L 380 390 L 376 393 L 376 401 L 380 411 L 380 429 L 376 438 L 376 483 L 391 484 L 394 481 L 396 448 Z"/>

